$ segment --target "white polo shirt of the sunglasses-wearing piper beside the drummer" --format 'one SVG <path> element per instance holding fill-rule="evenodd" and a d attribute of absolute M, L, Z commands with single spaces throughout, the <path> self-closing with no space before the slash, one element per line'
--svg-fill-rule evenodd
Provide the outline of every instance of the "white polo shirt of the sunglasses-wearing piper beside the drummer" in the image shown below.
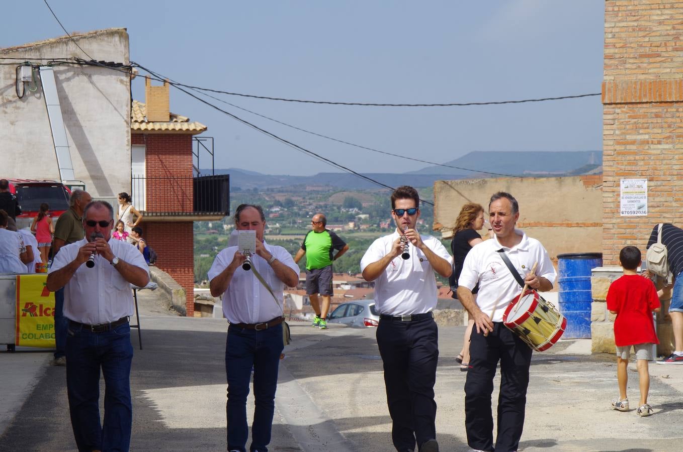
<path fill-rule="evenodd" d="M 361 271 L 377 262 L 393 247 L 399 233 L 380 237 L 372 242 L 361 259 Z M 446 248 L 431 235 L 420 235 L 422 242 L 441 258 L 453 262 Z M 397 256 L 375 280 L 375 307 L 380 314 L 400 316 L 402 314 L 424 314 L 436 307 L 436 278 L 434 269 L 423 252 L 408 245 L 410 258 L 404 260 Z"/>

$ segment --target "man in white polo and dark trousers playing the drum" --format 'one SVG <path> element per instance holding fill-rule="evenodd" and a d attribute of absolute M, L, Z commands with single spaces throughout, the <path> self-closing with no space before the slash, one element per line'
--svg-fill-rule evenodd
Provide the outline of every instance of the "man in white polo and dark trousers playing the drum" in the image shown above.
<path fill-rule="evenodd" d="M 531 239 L 515 224 L 517 200 L 498 192 L 488 204 L 494 238 L 479 243 L 467 254 L 458 299 L 475 321 L 470 342 L 470 369 L 465 381 L 467 443 L 476 451 L 516 451 L 524 427 L 531 348 L 503 325 L 503 312 L 522 288 L 503 260 L 503 250 L 520 277 L 534 290 L 553 288 L 557 273 L 540 241 Z M 538 263 L 535 274 L 533 265 Z M 471 290 L 479 283 L 474 301 Z M 491 393 L 498 362 L 501 388 L 498 400 L 498 436 L 493 442 Z"/>

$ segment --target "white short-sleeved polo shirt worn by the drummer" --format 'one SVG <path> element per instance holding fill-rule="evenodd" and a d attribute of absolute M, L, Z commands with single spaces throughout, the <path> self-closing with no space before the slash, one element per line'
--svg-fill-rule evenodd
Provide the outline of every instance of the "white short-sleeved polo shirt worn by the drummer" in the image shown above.
<path fill-rule="evenodd" d="M 514 297 L 522 292 L 522 287 L 510 273 L 510 269 L 507 268 L 497 250 L 501 248 L 505 250 L 505 254 L 510 258 L 510 262 L 522 280 L 531 271 L 534 262 L 538 262 L 536 275 L 546 278 L 553 285 L 557 278 L 553 262 L 550 262 L 548 252 L 540 241 L 527 237 L 520 229 L 515 229 L 515 232 L 522 236 L 522 241 L 512 248 L 502 246 L 497 237 L 474 245 L 465 257 L 458 279 L 458 285 L 469 290 L 472 290 L 479 282 L 477 305 L 488 316 L 491 316 L 495 307 L 494 316 L 491 319 L 494 322 L 503 321 L 505 308 Z"/>

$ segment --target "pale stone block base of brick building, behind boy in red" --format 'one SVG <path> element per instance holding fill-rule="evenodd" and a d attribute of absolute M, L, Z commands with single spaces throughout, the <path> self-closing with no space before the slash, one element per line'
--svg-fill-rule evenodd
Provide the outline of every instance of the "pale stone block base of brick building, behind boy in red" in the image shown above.
<path fill-rule="evenodd" d="M 614 319 L 615 314 L 607 310 L 607 290 L 614 280 L 623 275 L 622 267 L 598 267 L 591 271 L 591 352 L 615 353 Z M 671 291 L 665 290 L 660 301 L 662 309 L 657 314 L 658 355 L 670 355 L 673 352 L 673 331 L 671 319 L 666 314 L 671 299 Z"/>

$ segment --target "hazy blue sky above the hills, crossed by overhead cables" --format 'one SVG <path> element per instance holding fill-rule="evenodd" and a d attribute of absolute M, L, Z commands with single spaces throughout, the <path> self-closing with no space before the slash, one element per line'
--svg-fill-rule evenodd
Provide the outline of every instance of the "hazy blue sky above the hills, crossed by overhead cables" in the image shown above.
<path fill-rule="evenodd" d="M 602 82 L 604 2 L 596 0 L 48 3 L 69 32 L 125 27 L 133 61 L 189 85 L 236 93 L 344 102 L 488 102 L 598 93 Z M 0 47 L 64 35 L 42 0 L 3 2 L 3 16 L 14 19 L 0 29 Z M 133 84 L 134 97 L 144 101 L 143 80 Z M 440 108 L 221 97 L 319 134 L 431 162 L 470 151 L 602 147 L 599 96 Z M 359 172 L 426 166 L 208 100 Z M 217 168 L 286 175 L 338 171 L 175 89 L 171 111 L 208 125 Z"/>

